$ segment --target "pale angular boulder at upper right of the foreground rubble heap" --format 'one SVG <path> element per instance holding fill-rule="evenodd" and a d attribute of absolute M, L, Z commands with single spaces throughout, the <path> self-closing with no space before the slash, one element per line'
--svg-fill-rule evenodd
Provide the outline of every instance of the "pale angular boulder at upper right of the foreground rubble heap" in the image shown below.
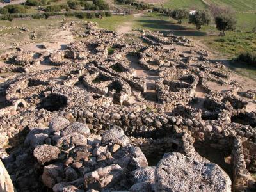
<path fill-rule="evenodd" d="M 104 134 L 102 135 L 102 143 L 116 143 L 124 147 L 130 144 L 130 140 L 127 136 L 125 136 L 124 131 L 123 129 L 121 129 L 121 127 L 113 125 L 111 129 L 104 132 Z"/>

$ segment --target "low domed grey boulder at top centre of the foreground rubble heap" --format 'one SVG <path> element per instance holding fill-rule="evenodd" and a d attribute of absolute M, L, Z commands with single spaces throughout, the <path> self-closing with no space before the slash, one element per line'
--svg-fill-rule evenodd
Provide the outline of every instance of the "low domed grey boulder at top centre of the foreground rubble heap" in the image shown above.
<path fill-rule="evenodd" d="M 67 127 L 65 127 L 65 129 L 63 129 L 63 131 L 61 131 L 61 136 L 66 136 L 68 134 L 71 134 L 73 132 L 77 132 L 79 134 L 90 134 L 90 129 L 86 124 L 82 124 L 79 122 L 74 122 L 71 125 L 68 125 Z"/>

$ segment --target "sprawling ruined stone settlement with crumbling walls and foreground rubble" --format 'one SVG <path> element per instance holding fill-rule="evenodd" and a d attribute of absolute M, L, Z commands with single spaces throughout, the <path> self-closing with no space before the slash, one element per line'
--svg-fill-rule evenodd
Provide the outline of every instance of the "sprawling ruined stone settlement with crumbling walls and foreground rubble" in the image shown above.
<path fill-rule="evenodd" d="M 256 189 L 255 90 L 187 38 L 62 28 L 79 25 L 65 49 L 1 56 L 1 159 L 17 191 Z"/>

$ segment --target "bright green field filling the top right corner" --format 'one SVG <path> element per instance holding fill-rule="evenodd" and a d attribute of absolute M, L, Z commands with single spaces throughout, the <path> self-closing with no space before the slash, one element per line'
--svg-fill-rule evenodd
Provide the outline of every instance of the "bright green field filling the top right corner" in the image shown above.
<path fill-rule="evenodd" d="M 217 5 L 231 6 L 234 10 L 244 12 L 256 12 L 256 1 L 255 0 L 207 0 L 209 3 Z"/>

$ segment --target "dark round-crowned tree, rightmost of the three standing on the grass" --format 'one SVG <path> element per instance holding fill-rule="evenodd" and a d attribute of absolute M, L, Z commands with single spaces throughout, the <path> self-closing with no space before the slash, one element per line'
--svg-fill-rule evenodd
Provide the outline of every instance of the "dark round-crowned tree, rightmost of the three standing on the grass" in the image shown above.
<path fill-rule="evenodd" d="M 221 35 L 225 35 L 225 31 L 236 29 L 236 22 L 236 18 L 231 14 L 221 14 L 215 17 L 216 28 L 223 31 Z"/>

